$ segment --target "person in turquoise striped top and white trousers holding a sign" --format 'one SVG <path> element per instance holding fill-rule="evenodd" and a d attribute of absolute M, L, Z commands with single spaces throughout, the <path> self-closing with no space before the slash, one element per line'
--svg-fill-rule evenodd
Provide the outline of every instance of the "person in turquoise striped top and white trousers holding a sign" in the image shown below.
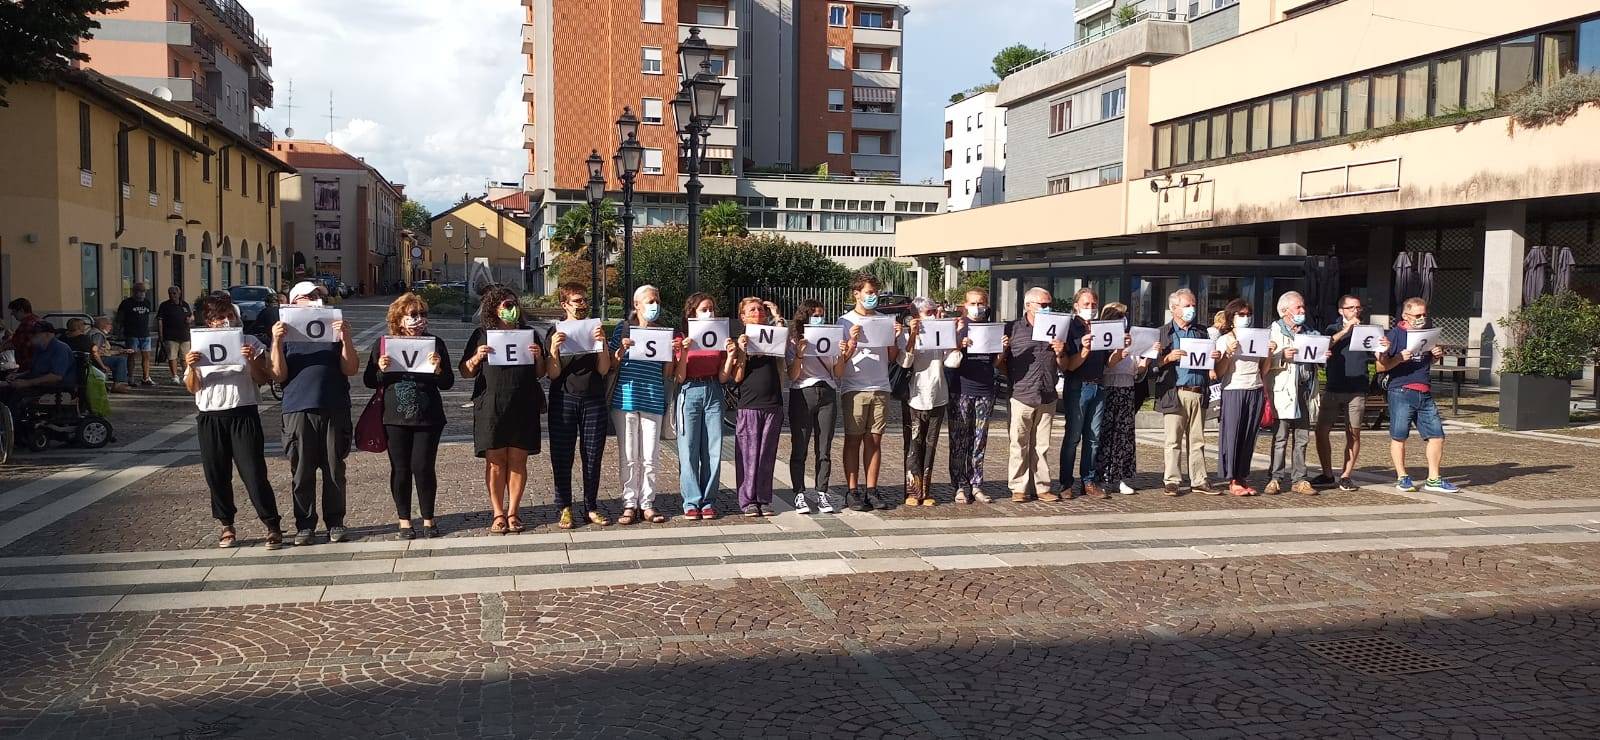
<path fill-rule="evenodd" d="M 667 376 L 674 373 L 674 338 L 662 328 L 661 292 L 654 285 L 634 290 L 634 312 L 611 332 L 611 362 L 616 384 L 611 388 L 611 428 L 616 429 L 616 458 L 622 476 L 622 516 L 618 524 L 646 521 L 666 522 L 656 511 L 656 450 L 661 448 L 661 420 L 667 415 Z M 635 338 L 634 330 L 638 332 Z M 646 335 L 666 338 L 646 338 Z M 659 346 L 640 346 L 643 340 Z M 634 359 L 629 352 L 659 352 L 666 362 Z"/>

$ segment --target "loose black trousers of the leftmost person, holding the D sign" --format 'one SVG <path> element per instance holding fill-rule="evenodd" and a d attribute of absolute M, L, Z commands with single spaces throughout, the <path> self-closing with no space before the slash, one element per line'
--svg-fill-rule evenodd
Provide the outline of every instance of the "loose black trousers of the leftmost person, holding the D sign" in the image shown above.
<path fill-rule="evenodd" d="M 234 469 L 245 484 L 256 516 L 267 529 L 278 529 L 278 500 L 267 481 L 266 434 L 261 431 L 261 415 L 256 407 L 240 407 L 226 412 L 200 412 L 200 469 L 205 471 L 206 489 L 211 489 L 211 517 L 227 527 L 234 525 Z"/>

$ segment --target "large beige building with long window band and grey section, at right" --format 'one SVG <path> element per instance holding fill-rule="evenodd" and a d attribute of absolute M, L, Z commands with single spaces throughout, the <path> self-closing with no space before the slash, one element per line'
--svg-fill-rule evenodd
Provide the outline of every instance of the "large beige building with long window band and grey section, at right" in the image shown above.
<path fill-rule="evenodd" d="M 1600 2 L 1187 11 L 1141 10 L 1006 77 L 1006 202 L 906 224 L 899 255 L 990 258 L 1002 316 L 1027 287 L 1091 285 L 1146 325 L 1178 287 L 1205 312 L 1315 287 L 1382 317 L 1418 292 L 1395 288 L 1408 263 L 1445 341 L 1472 348 L 1522 303 L 1531 247 L 1571 250 L 1574 290 L 1600 296 L 1600 109 L 1518 122 L 1507 104 L 1600 74 Z M 1109 112 L 1114 78 L 1120 117 L 1082 130 L 1080 101 Z M 1072 114 L 1038 115 L 1056 106 Z"/>

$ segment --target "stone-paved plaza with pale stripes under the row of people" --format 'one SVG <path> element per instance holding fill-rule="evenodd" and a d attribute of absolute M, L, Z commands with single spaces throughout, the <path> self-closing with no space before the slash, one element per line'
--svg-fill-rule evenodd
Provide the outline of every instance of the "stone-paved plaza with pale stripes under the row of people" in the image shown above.
<path fill-rule="evenodd" d="M 347 308 L 358 341 L 381 311 Z M 434 328 L 464 344 L 466 325 Z M 1373 434 L 1362 490 L 1254 498 L 1163 497 L 1158 437 L 1141 437 L 1138 495 L 1027 505 L 1005 501 L 994 434 L 986 490 L 1003 503 L 952 501 L 946 440 L 933 508 L 784 503 L 571 532 L 536 456 L 528 532 L 491 537 L 469 394 L 446 400 L 437 540 L 390 538 L 389 463 L 357 452 L 350 541 L 267 551 L 242 516 L 240 546 L 216 548 L 176 386 L 115 397 L 107 450 L 0 468 L 0 735 L 1594 737 L 1600 722 L 1600 440 L 1584 434 L 1453 423 L 1451 495 L 1395 492 Z M 286 509 L 277 410 L 262 416 Z M 898 437 L 891 424 L 885 482 Z M 787 440 L 779 458 L 782 501 Z M 614 460 L 613 442 L 613 516 Z M 670 444 L 658 484 L 675 513 Z M 728 463 L 725 513 L 731 485 Z"/>

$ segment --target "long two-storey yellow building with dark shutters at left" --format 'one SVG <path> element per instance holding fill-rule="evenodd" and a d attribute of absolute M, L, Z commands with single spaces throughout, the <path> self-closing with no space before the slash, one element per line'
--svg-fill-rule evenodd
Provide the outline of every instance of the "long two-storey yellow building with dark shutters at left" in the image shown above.
<path fill-rule="evenodd" d="M 248 139 L 91 70 L 13 85 L 0 109 L 0 296 L 104 314 L 278 282 L 274 183 Z"/>

